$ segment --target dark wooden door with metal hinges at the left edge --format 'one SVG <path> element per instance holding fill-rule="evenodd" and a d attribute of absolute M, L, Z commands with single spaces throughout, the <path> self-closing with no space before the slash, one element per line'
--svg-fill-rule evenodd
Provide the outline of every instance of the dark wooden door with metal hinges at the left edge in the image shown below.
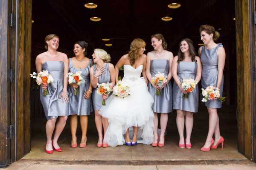
<path fill-rule="evenodd" d="M 0 167 L 30 152 L 32 0 L 0 1 Z"/>

